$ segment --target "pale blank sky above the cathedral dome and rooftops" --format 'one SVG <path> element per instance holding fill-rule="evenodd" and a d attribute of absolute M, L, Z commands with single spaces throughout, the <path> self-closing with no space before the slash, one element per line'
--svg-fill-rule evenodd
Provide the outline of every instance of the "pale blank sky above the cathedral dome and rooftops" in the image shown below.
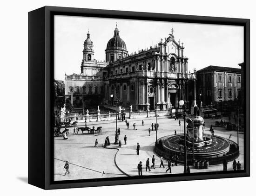
<path fill-rule="evenodd" d="M 184 43 L 183 54 L 189 58 L 191 71 L 209 65 L 240 68 L 238 63 L 243 62 L 243 26 L 55 16 L 54 78 L 64 80 L 65 73 L 81 73 L 88 30 L 94 43 L 94 59 L 105 60 L 105 49 L 116 24 L 129 54 L 154 47 L 161 38 L 168 38 L 173 28 L 175 41 Z"/>

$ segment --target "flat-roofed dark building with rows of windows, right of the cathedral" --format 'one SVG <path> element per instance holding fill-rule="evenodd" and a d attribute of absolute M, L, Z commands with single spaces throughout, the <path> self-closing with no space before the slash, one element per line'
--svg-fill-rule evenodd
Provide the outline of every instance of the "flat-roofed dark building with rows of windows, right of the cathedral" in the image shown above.
<path fill-rule="evenodd" d="M 241 69 L 208 66 L 196 72 L 203 105 L 236 101 L 241 92 Z"/>

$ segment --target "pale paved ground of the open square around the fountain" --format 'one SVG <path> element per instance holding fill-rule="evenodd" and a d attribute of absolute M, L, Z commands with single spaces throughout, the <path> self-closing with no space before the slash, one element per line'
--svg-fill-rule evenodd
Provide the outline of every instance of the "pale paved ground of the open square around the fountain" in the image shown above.
<path fill-rule="evenodd" d="M 144 120 L 144 126 L 141 124 Z M 228 121 L 227 118 L 222 120 Z M 234 119 L 232 119 L 234 120 Z M 231 120 L 231 121 L 232 121 Z M 176 129 L 177 134 L 183 132 L 182 126 L 178 125 L 178 120 L 169 119 L 167 116 L 158 117 L 159 130 L 157 138 L 174 134 Z M 212 119 L 205 119 L 205 133 L 208 133 L 210 125 L 215 124 Z M 72 179 L 88 179 L 88 178 L 102 178 L 102 177 L 126 177 L 137 176 L 137 164 L 142 161 L 142 175 L 159 175 L 169 174 L 166 173 L 167 161 L 164 161 L 165 168 L 159 168 L 160 157 L 154 153 L 155 131 L 151 131 L 148 135 L 148 128 L 151 129 L 151 124 L 155 123 L 155 118 L 145 119 L 128 119 L 130 123 L 129 129 L 125 122 L 118 121 L 118 127 L 121 129 L 119 140 L 122 142 L 121 148 L 118 145 L 113 145 L 115 141 L 115 121 L 104 122 L 90 122 L 87 126 L 102 126 L 101 134 L 87 135 L 87 134 L 73 134 L 73 127 L 69 128 L 69 135 L 67 140 L 62 137 L 54 138 L 54 180 L 72 180 Z M 137 130 L 133 130 L 133 123 L 136 123 Z M 232 122 L 234 123 L 234 122 Z M 79 123 L 78 126 L 84 126 L 84 123 Z M 224 138 L 231 138 L 237 142 L 237 134 L 235 131 L 227 131 L 222 127 L 214 127 L 215 135 Z M 84 132 L 85 133 L 85 132 Z M 124 135 L 127 136 L 127 145 L 124 145 Z M 105 138 L 109 136 L 111 145 L 108 148 L 102 147 Z M 94 147 L 95 139 L 98 139 L 98 148 Z M 137 142 L 140 144 L 140 155 L 136 155 Z M 243 170 L 243 133 L 239 134 L 239 149 L 240 155 L 236 160 L 242 164 Z M 155 155 L 155 170 L 146 172 L 146 160 Z M 64 176 L 63 170 L 64 161 L 69 162 L 70 174 Z M 183 165 L 172 167 L 172 173 L 183 173 Z M 222 171 L 223 166 L 215 165 L 209 166 L 209 169 L 194 169 L 190 167 L 192 172 L 205 172 L 205 171 Z M 232 162 L 228 163 L 228 170 L 232 169 Z M 104 174 L 103 174 L 104 171 Z"/>

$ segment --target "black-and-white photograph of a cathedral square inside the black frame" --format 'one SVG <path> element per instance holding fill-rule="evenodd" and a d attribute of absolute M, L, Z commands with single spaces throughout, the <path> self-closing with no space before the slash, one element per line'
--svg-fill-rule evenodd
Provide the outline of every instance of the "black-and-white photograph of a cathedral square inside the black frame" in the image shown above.
<path fill-rule="evenodd" d="M 54 15 L 54 181 L 244 170 L 244 27 Z"/>

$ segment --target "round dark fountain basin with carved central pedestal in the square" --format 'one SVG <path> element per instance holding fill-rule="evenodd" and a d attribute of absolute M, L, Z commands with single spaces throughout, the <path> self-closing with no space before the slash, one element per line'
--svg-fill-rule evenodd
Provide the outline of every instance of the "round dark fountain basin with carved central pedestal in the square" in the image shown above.
<path fill-rule="evenodd" d="M 204 120 L 198 107 L 194 107 L 193 117 L 186 122 L 188 163 L 192 163 L 193 151 L 195 159 L 208 160 L 209 164 L 221 164 L 223 159 L 229 161 L 239 155 L 238 145 L 232 140 L 204 133 Z M 155 152 L 167 159 L 179 155 L 178 162 L 183 162 L 184 143 L 183 134 L 165 136 L 155 143 Z"/>

